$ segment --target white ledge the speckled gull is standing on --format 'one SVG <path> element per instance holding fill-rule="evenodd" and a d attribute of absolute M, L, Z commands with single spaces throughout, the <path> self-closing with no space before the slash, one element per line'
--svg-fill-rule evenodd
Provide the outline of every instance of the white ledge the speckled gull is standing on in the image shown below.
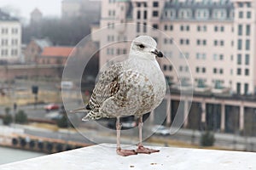
<path fill-rule="evenodd" d="M 127 146 L 135 149 L 136 146 Z M 115 144 L 97 144 L 26 161 L 0 166 L 1 170 L 140 170 L 140 169 L 256 169 L 256 154 L 252 152 L 198 150 L 172 147 L 160 149 L 151 155 L 118 156 Z"/>

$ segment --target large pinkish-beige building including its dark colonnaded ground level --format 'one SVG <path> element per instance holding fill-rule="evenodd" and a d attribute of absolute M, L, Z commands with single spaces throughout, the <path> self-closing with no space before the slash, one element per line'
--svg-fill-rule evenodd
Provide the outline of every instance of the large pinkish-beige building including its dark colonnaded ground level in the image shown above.
<path fill-rule="evenodd" d="M 102 67 L 135 37 L 154 37 L 168 57 L 159 62 L 172 92 L 157 110 L 167 125 L 181 111 L 183 127 L 255 136 L 255 9 L 254 0 L 106 0 L 92 39 Z"/>

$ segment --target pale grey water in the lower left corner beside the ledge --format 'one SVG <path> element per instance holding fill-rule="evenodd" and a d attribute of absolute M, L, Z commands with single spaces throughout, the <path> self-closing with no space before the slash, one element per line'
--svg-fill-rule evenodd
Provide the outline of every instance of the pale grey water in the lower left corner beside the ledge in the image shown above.
<path fill-rule="evenodd" d="M 45 155 L 44 153 L 0 147 L 0 165 Z"/>

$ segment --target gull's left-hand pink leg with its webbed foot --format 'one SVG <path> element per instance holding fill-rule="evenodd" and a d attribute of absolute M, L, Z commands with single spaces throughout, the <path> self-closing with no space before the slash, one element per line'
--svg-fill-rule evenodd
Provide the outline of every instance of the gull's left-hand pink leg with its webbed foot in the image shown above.
<path fill-rule="evenodd" d="M 131 155 L 137 155 L 137 152 L 135 150 L 122 150 L 120 145 L 120 134 L 121 134 L 121 127 L 122 124 L 120 123 L 119 117 L 117 117 L 116 120 L 116 153 L 120 156 L 131 156 Z"/>

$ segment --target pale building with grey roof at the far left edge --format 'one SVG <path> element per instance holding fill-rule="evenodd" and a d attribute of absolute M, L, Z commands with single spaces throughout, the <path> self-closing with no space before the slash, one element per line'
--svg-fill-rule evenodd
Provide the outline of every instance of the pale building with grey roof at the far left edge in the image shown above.
<path fill-rule="evenodd" d="M 20 60 L 21 23 L 18 19 L 3 13 L 0 8 L 0 60 L 14 63 Z"/>

